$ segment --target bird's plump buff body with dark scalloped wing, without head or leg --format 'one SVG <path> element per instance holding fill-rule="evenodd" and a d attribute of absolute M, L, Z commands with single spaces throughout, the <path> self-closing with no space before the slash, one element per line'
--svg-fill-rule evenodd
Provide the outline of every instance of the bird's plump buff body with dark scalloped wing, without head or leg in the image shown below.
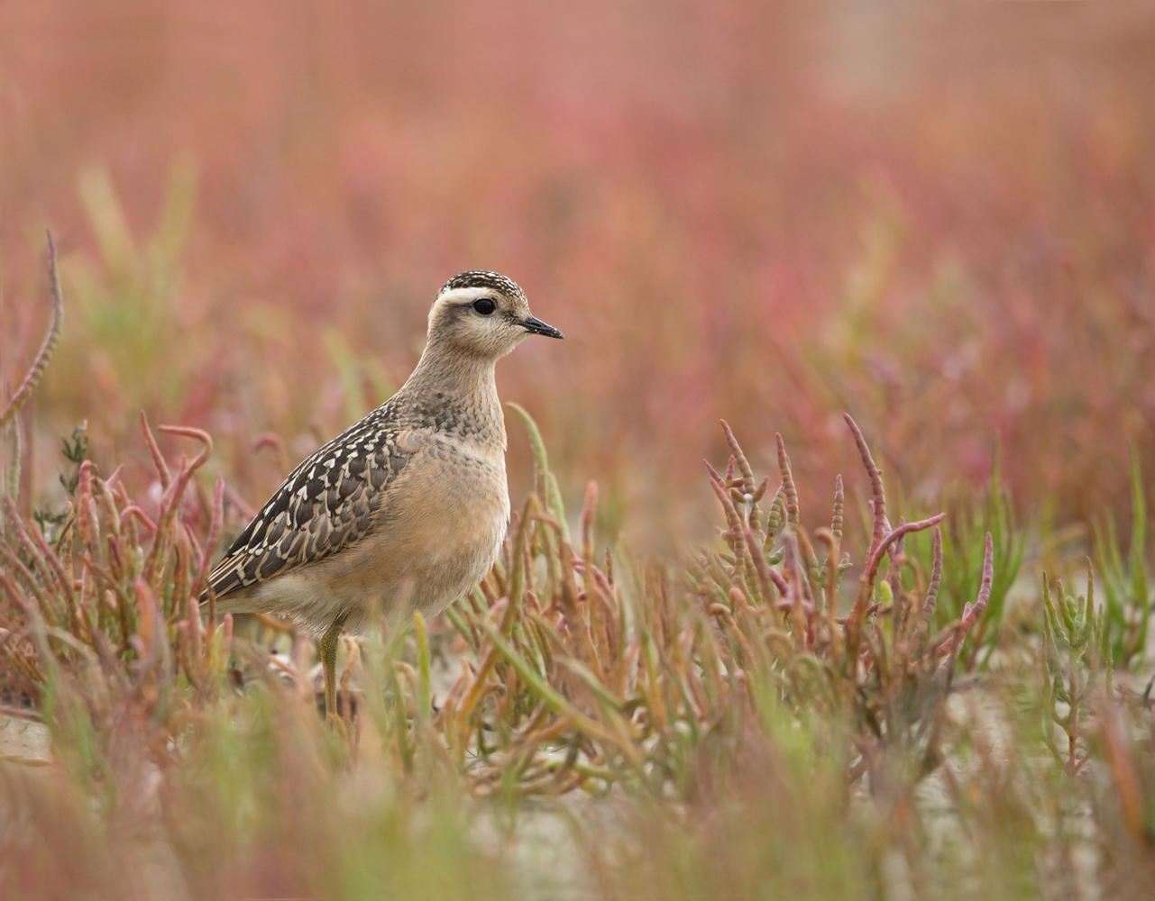
<path fill-rule="evenodd" d="M 408 390 L 407 390 L 408 389 Z M 509 515 L 492 398 L 410 386 L 295 468 L 213 570 L 222 611 L 439 611 L 492 565 Z M 495 421 L 494 421 L 495 415 Z"/>

